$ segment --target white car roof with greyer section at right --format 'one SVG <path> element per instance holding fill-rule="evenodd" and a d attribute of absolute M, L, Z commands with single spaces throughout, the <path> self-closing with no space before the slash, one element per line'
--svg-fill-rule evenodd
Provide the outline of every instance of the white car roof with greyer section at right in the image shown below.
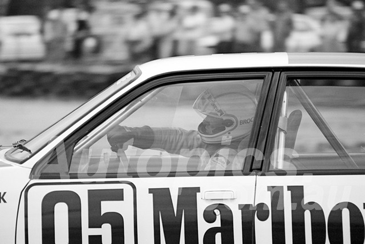
<path fill-rule="evenodd" d="M 180 56 L 139 65 L 143 76 L 179 71 L 264 67 L 365 67 L 363 53 L 237 53 Z"/>

